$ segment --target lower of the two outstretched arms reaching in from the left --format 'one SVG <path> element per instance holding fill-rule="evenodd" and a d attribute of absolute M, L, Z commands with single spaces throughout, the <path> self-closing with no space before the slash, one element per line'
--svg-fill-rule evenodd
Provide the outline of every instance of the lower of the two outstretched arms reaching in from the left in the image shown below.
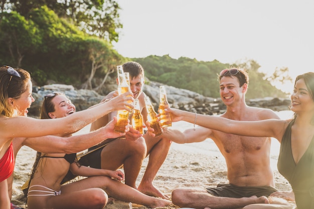
<path fill-rule="evenodd" d="M 129 125 L 125 127 L 124 133 L 116 132 L 113 130 L 116 122 L 117 118 L 114 117 L 106 126 L 96 131 L 70 137 L 48 135 L 26 138 L 23 145 L 44 153 L 75 153 L 100 143 L 107 138 L 116 138 L 125 135 Z"/>

